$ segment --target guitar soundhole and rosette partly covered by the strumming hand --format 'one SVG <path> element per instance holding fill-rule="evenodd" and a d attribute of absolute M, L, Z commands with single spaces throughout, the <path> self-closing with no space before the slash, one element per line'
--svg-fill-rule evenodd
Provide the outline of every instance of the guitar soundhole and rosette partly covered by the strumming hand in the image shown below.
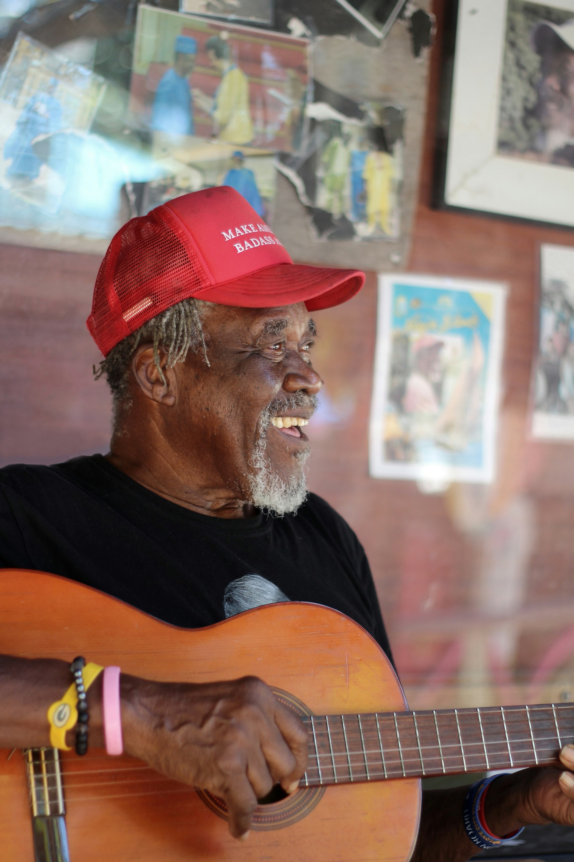
<path fill-rule="evenodd" d="M 311 710 L 294 695 L 281 689 L 273 689 L 281 703 L 296 712 L 297 715 L 311 715 Z M 263 799 L 259 799 L 258 809 L 253 815 L 251 828 L 255 832 L 266 832 L 270 829 L 282 829 L 303 820 L 319 803 L 325 792 L 325 787 L 302 787 L 288 796 L 280 784 L 276 784 Z M 197 795 L 223 820 L 228 820 L 228 809 L 219 796 L 208 790 L 197 790 Z"/>

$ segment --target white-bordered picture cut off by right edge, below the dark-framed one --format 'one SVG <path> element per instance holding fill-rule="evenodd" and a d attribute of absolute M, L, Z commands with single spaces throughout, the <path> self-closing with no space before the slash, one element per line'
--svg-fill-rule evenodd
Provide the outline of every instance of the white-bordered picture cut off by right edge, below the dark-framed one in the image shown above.
<path fill-rule="evenodd" d="M 574 440 L 574 247 L 540 248 L 540 328 L 532 435 Z"/>

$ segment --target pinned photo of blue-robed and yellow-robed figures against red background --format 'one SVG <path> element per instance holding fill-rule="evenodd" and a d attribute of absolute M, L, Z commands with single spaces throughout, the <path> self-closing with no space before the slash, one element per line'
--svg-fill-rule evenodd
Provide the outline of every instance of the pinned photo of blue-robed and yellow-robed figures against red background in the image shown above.
<path fill-rule="evenodd" d="M 138 6 L 130 107 L 159 136 L 290 151 L 309 41 Z M 181 149 L 181 144 L 179 145 Z"/>

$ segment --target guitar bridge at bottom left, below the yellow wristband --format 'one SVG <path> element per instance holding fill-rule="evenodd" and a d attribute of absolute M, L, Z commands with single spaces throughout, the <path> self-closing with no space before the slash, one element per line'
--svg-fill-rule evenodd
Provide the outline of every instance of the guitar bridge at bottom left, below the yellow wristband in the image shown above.
<path fill-rule="evenodd" d="M 28 748 L 24 755 L 32 808 L 35 862 L 70 862 L 58 749 Z"/>

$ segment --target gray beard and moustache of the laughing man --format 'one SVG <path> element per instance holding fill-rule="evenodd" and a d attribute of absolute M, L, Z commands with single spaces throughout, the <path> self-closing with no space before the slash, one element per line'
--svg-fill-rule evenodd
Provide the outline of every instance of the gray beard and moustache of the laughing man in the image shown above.
<path fill-rule="evenodd" d="M 269 512 L 270 515 L 296 515 L 297 509 L 307 499 L 307 476 L 304 465 L 311 453 L 309 447 L 298 453 L 294 459 L 294 472 L 288 479 L 283 479 L 271 467 L 265 447 L 266 434 L 271 419 L 280 412 L 298 407 L 316 409 L 318 401 L 315 396 L 297 392 L 290 398 L 276 398 L 261 414 L 259 419 L 259 440 L 253 449 L 249 461 L 253 473 L 249 477 L 250 502 L 258 509 Z"/>

